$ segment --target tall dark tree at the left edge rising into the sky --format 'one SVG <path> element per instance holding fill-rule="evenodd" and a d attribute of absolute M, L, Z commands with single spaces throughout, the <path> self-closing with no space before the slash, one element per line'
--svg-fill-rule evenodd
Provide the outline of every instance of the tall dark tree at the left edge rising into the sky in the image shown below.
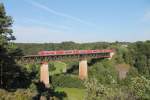
<path fill-rule="evenodd" d="M 23 86 L 25 73 L 24 70 L 15 63 L 15 57 L 21 54 L 12 40 L 11 29 L 13 20 L 6 15 L 4 5 L 0 3 L 0 87 L 9 88 Z"/>

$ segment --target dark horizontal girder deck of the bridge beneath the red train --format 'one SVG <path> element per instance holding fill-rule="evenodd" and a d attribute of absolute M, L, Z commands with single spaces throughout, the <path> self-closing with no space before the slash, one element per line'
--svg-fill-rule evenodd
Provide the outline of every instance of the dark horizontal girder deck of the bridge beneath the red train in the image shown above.
<path fill-rule="evenodd" d="M 91 52 L 90 53 L 89 51 L 83 52 L 82 50 L 81 54 L 80 52 L 71 53 L 68 51 L 70 50 L 67 50 L 67 54 L 65 53 L 65 51 L 63 51 L 64 52 L 63 54 L 60 54 L 60 51 L 55 51 L 56 54 L 48 54 L 47 52 L 43 53 L 42 51 L 42 53 L 38 55 L 25 55 L 19 60 L 21 60 L 22 62 L 49 62 L 49 61 L 81 60 L 93 58 L 110 58 L 111 57 L 110 53 L 112 52 L 112 50 L 99 50 L 99 51 L 97 50 L 97 52 L 95 52 L 96 50 L 95 51 L 93 50 L 94 52 L 90 51 Z M 59 54 L 57 54 L 58 52 Z"/>

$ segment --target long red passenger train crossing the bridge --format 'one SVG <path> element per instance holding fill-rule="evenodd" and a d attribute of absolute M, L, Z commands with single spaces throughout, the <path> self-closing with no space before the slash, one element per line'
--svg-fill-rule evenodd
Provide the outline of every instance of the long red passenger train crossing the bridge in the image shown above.
<path fill-rule="evenodd" d="M 94 53 L 107 53 L 113 52 L 110 49 L 103 49 L 103 50 L 59 50 L 59 51 L 40 51 L 38 52 L 41 56 L 46 55 L 71 55 L 71 54 L 94 54 Z"/>

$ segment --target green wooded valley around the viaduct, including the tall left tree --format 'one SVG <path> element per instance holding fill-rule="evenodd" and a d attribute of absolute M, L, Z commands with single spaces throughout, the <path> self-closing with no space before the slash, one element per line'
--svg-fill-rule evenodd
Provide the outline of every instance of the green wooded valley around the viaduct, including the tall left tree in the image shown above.
<path fill-rule="evenodd" d="M 13 19 L 0 4 L 0 100 L 150 100 L 150 40 L 137 42 L 15 43 Z M 88 79 L 78 62 L 49 62 L 50 88 L 39 81 L 40 64 L 18 56 L 41 50 L 114 49 L 111 60 L 88 60 Z"/>

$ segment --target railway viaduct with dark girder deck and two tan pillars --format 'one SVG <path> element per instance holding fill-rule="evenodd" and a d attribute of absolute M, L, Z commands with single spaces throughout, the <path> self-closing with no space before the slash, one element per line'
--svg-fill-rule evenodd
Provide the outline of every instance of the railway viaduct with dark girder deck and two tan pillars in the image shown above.
<path fill-rule="evenodd" d="M 70 50 L 65 50 L 63 52 L 68 52 Z M 86 79 L 88 76 L 88 59 L 98 59 L 106 58 L 111 59 L 114 55 L 113 50 L 92 50 L 91 52 L 85 52 L 86 50 L 78 50 L 78 53 L 42 53 L 38 55 L 27 55 L 23 56 L 21 60 L 25 63 L 36 62 L 40 63 L 40 81 L 45 85 L 49 86 L 49 71 L 48 71 L 48 62 L 51 61 L 65 61 L 65 60 L 78 60 L 79 61 L 79 78 L 81 80 Z M 60 51 L 53 51 L 60 52 Z"/>

